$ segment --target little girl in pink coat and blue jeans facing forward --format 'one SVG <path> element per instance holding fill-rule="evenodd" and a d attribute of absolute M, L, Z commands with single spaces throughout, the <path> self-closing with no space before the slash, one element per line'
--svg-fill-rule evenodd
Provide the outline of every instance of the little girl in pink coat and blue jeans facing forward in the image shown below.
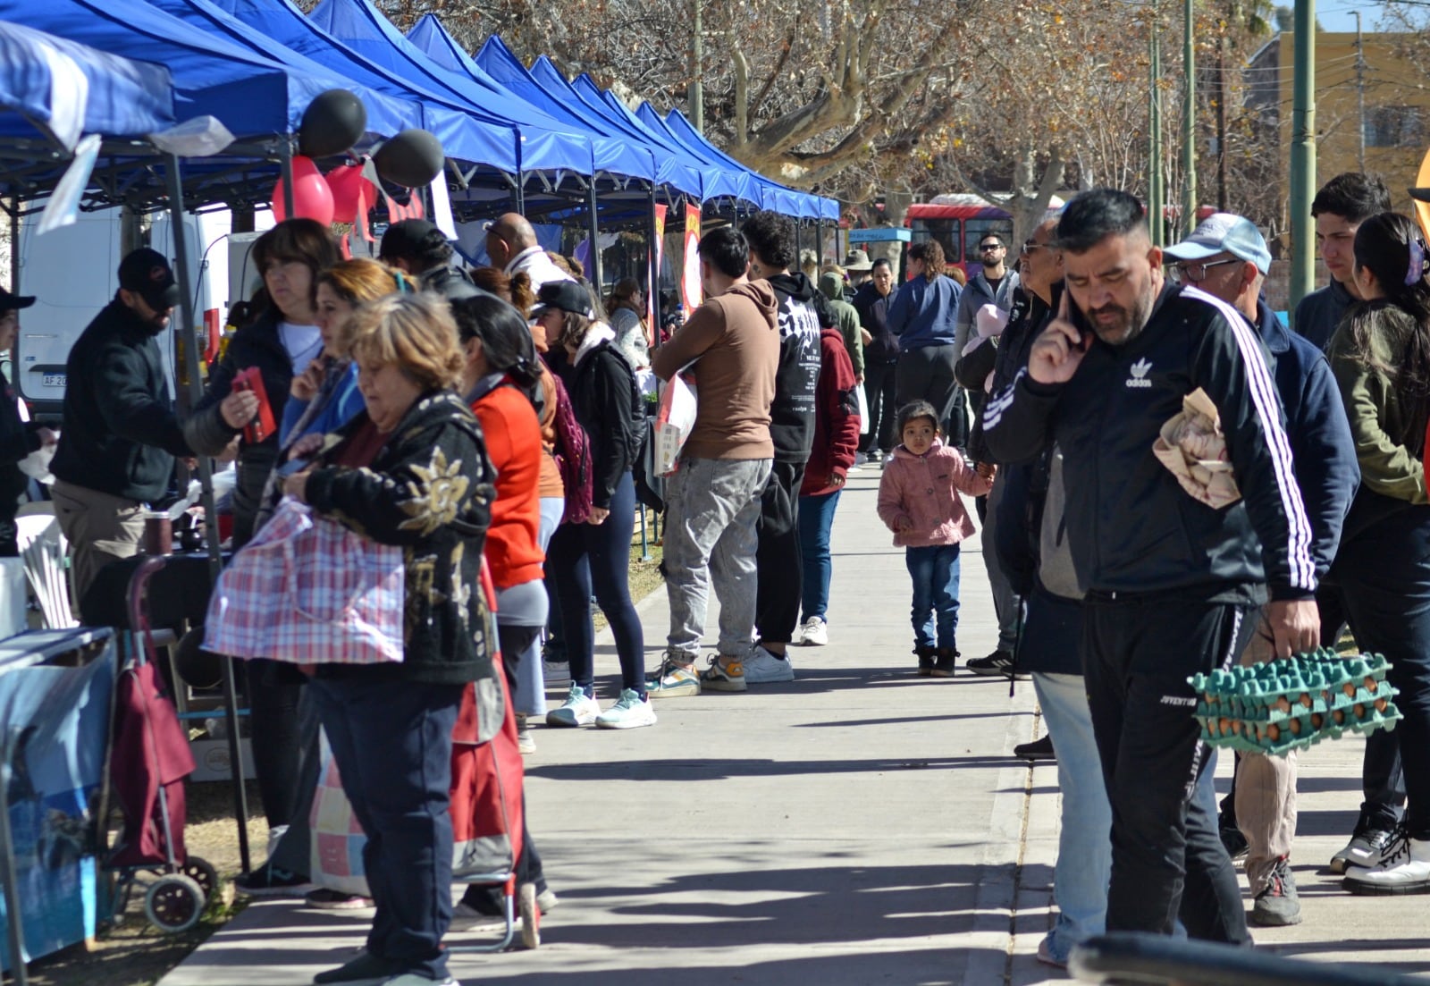
<path fill-rule="evenodd" d="M 898 412 L 904 444 L 884 464 L 879 519 L 904 548 L 914 580 L 914 654 L 918 673 L 951 678 L 958 661 L 958 542 L 974 534 L 960 492 L 981 497 L 992 487 L 995 468 L 977 469 L 957 448 L 944 445 L 938 412 L 914 401 Z M 935 635 L 937 634 L 937 635 Z"/>

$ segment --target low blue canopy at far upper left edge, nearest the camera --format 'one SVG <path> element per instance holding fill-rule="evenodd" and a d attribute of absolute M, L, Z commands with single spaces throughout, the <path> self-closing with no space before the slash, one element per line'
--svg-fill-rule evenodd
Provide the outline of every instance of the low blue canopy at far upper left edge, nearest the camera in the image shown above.
<path fill-rule="evenodd" d="M 73 113 L 80 133 L 136 137 L 174 123 L 173 82 L 163 66 L 0 23 L 0 106 L 10 110 L 0 113 L 0 136 L 30 137 L 36 126 L 49 127 L 51 120 L 59 130 L 73 130 L 63 109 L 56 117 L 54 106 L 56 87 L 61 93 L 74 89 L 66 72 L 83 73 L 86 82 L 84 104 Z"/>

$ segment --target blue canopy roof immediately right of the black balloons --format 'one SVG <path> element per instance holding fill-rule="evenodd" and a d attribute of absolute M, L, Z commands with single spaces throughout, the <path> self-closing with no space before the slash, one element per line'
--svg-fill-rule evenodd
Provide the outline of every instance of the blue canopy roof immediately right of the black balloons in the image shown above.
<path fill-rule="evenodd" d="M 490 165 L 509 173 L 521 169 L 513 127 L 483 120 L 476 110 L 455 97 L 370 64 L 366 57 L 305 17 L 289 0 L 214 0 L 214 6 L 343 79 L 389 96 L 418 100 L 422 103 L 422 126 L 436 135 L 448 157 Z"/>

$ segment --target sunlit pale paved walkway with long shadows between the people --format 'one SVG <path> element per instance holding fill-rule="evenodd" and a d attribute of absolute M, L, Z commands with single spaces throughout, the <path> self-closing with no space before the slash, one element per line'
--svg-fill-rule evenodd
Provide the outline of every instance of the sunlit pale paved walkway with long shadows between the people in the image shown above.
<path fill-rule="evenodd" d="M 865 468 L 839 504 L 831 644 L 794 650 L 797 681 L 666 700 L 654 728 L 535 733 L 531 827 L 562 906 L 536 952 L 456 957 L 463 983 L 1062 979 L 1034 959 L 1050 923 L 1057 771 L 1010 756 L 1041 731 L 1032 687 L 1010 697 L 1005 681 L 914 675 L 908 577 L 874 514 L 877 485 Z M 987 654 L 995 634 L 977 544 L 962 597 L 960 645 Z M 641 612 L 654 667 L 665 594 Z M 1257 940 L 1430 972 L 1423 897 L 1351 897 L 1320 872 L 1354 824 L 1360 751 L 1340 740 L 1303 757 L 1293 861 L 1306 920 Z M 1224 757 L 1221 787 L 1228 770 Z M 255 902 L 162 986 L 309 983 L 353 955 L 369 916 Z"/>

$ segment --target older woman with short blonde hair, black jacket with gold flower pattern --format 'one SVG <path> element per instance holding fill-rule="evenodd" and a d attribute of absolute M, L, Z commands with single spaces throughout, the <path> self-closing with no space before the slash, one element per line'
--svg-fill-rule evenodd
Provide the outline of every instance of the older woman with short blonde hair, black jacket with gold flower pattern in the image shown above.
<path fill-rule="evenodd" d="M 465 359 L 446 302 L 389 295 L 352 321 L 365 411 L 283 491 L 359 537 L 403 548 L 403 657 L 319 665 L 309 688 L 343 791 L 368 836 L 378 909 L 368 947 L 316 983 L 455 986 L 442 936 L 452 920 L 452 731 L 473 681 L 493 681 L 480 584 L 493 469 L 453 388 Z"/>

